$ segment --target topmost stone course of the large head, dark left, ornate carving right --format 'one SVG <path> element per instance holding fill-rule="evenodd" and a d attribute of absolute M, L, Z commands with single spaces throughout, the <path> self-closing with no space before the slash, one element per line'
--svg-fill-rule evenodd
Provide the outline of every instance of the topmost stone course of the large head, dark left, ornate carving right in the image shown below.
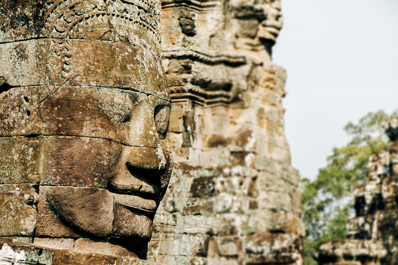
<path fill-rule="evenodd" d="M 160 3 L 156 1 L 4 0 L 0 17 L 0 42 L 37 37 L 101 39 L 133 43 L 160 53 Z"/>

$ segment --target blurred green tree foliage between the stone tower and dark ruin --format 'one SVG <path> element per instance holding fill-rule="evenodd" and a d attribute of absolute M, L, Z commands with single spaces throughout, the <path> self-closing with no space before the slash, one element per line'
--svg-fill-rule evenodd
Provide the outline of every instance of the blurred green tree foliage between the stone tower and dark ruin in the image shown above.
<path fill-rule="evenodd" d="M 369 156 L 388 145 L 384 125 L 397 117 L 377 111 L 368 113 L 358 123 L 348 123 L 344 130 L 351 137 L 347 145 L 333 148 L 328 164 L 314 181 L 301 178 L 302 212 L 306 226 L 305 264 L 317 264 L 311 257 L 324 241 L 345 238 L 347 218 L 352 206 L 352 190 L 367 179 Z"/>

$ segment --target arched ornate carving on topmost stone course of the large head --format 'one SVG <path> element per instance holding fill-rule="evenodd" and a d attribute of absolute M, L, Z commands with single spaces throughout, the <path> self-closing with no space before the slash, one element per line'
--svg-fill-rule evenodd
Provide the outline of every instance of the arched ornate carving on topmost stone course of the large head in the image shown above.
<path fill-rule="evenodd" d="M 152 0 L 48 0 L 41 37 L 78 39 L 84 28 L 117 20 L 131 29 L 150 31 L 160 42 L 160 7 Z"/>

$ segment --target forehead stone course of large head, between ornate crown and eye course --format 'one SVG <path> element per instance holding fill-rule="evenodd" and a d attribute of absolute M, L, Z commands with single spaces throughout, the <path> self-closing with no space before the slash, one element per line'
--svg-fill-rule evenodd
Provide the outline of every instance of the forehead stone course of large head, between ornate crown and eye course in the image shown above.
<path fill-rule="evenodd" d="M 39 39 L 1 44 L 0 64 L 6 83 L 10 86 L 124 88 L 168 99 L 162 62 L 149 51 L 121 41 L 55 41 L 57 39 Z"/>

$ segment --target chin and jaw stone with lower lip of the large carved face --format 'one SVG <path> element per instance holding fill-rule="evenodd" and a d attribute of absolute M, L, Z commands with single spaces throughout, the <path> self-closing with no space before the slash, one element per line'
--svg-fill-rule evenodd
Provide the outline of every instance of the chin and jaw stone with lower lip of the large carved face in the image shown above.
<path fill-rule="evenodd" d="M 115 200 L 120 196 L 123 198 Z M 157 208 L 152 200 L 106 189 L 61 186 L 51 187 L 45 197 L 55 214 L 80 237 L 136 242 L 149 242 L 152 237 Z"/>

